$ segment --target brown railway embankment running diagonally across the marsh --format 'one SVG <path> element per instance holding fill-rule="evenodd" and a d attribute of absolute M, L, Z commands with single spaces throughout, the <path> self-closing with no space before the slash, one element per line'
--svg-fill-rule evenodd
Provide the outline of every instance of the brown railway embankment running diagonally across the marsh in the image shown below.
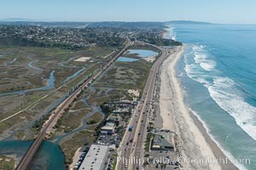
<path fill-rule="evenodd" d="M 60 105 L 57 106 L 55 111 L 51 116 L 49 116 L 49 120 L 44 123 L 43 127 L 41 128 L 40 132 L 37 135 L 37 138 L 34 140 L 30 148 L 27 150 L 25 156 L 21 159 L 19 165 L 16 167 L 16 170 L 26 170 L 29 166 L 30 162 L 32 161 L 33 156 L 35 156 L 39 146 L 42 144 L 44 137 L 46 133 L 49 133 L 49 129 L 55 126 L 55 122 L 61 117 L 64 110 L 73 102 L 73 99 L 75 99 L 81 91 L 88 87 L 88 85 L 96 79 L 96 77 L 99 77 L 107 68 L 109 65 L 112 65 L 113 62 L 119 58 L 121 54 L 125 52 L 125 50 L 131 46 L 133 42 L 127 42 L 125 47 L 122 48 L 118 54 L 115 54 L 112 59 L 110 59 L 107 63 L 102 65 L 102 69 L 97 71 L 93 76 L 91 76 L 89 79 L 87 79 L 79 88 L 77 88 L 73 94 L 69 95 L 67 99 L 65 99 Z"/>

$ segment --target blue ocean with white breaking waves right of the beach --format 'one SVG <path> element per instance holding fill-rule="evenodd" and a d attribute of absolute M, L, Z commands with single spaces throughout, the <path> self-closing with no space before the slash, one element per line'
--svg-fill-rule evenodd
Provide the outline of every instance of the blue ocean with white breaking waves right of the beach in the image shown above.
<path fill-rule="evenodd" d="M 172 25 L 184 101 L 240 169 L 256 169 L 256 26 Z"/>

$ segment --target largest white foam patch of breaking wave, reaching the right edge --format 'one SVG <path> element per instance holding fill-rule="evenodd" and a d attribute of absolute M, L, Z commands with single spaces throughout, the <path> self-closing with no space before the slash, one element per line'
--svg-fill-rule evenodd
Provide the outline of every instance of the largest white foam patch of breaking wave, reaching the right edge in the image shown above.
<path fill-rule="evenodd" d="M 254 140 L 256 140 L 256 108 L 235 94 L 234 82 L 228 77 L 215 77 L 208 91 L 216 103 Z"/>

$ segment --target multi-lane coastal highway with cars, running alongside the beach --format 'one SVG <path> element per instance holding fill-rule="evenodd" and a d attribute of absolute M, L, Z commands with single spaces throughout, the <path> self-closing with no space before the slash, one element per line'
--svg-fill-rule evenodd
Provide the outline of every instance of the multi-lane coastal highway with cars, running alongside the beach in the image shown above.
<path fill-rule="evenodd" d="M 154 62 L 154 65 L 150 70 L 147 83 L 143 90 L 141 101 L 138 103 L 135 111 L 131 116 L 131 121 L 126 129 L 125 135 L 119 147 L 119 158 L 121 158 L 122 161 L 118 161 L 116 166 L 117 170 L 142 169 L 143 163 L 140 164 L 138 161 L 140 158 L 143 158 L 145 139 L 147 136 L 148 114 L 154 103 L 154 87 L 156 83 L 156 77 L 158 76 L 160 65 L 168 57 L 168 51 L 166 49 L 159 49 L 162 54 L 160 58 Z M 133 126 L 133 129 L 132 131 L 129 131 L 129 127 L 131 126 Z M 125 160 L 128 162 L 126 163 Z"/>

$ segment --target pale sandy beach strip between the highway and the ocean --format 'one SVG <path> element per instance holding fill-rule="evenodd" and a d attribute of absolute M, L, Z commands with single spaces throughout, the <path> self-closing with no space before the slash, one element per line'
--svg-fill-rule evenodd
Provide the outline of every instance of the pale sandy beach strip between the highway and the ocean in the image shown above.
<path fill-rule="evenodd" d="M 233 164 L 214 163 L 225 159 L 224 153 L 207 134 L 202 123 L 183 102 L 183 89 L 176 77 L 175 65 L 183 54 L 183 47 L 171 54 L 160 69 L 160 116 L 162 128 L 177 133 L 183 169 L 237 169 Z M 210 163 L 208 163 L 209 161 Z M 200 161 L 200 162 L 199 162 Z"/>

